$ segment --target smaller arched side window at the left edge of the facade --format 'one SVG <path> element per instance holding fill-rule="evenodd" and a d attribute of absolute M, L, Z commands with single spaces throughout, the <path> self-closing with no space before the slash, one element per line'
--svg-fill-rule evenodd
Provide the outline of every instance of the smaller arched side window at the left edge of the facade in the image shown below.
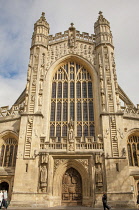
<path fill-rule="evenodd" d="M 17 140 L 7 138 L 1 147 L 0 166 L 15 167 L 17 155 Z"/>

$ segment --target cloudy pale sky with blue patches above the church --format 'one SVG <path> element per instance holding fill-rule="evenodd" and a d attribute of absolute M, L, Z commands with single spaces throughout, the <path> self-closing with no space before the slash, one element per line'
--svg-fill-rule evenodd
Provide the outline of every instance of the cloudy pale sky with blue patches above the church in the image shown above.
<path fill-rule="evenodd" d="M 1 0 L 0 107 L 11 106 L 26 85 L 34 23 L 45 12 L 50 34 L 77 30 L 94 33 L 98 12 L 110 22 L 118 83 L 139 103 L 139 0 Z"/>

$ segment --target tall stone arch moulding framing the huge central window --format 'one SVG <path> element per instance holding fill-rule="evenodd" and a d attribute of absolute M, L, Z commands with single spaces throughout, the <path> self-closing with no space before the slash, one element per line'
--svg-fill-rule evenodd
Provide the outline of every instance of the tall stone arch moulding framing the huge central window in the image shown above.
<path fill-rule="evenodd" d="M 99 112 L 100 112 L 100 97 L 99 97 L 99 80 L 98 80 L 98 72 L 96 71 L 95 67 L 88 62 L 86 59 L 78 56 L 78 55 L 67 55 L 60 59 L 58 59 L 55 63 L 52 64 L 50 69 L 47 72 L 46 80 L 44 84 L 44 103 L 45 101 L 50 101 L 51 94 L 52 94 L 52 81 L 55 73 L 57 70 L 62 66 L 62 64 L 65 64 L 66 62 L 74 61 L 80 65 L 82 65 L 86 71 L 91 76 L 92 86 L 93 86 L 93 106 L 94 106 L 94 121 L 95 121 L 95 136 L 97 136 L 100 133 L 100 118 L 99 118 Z M 47 94 L 46 94 L 47 93 Z M 45 103 L 45 106 L 43 108 L 44 115 L 46 113 L 51 113 L 51 103 Z M 47 137 L 49 138 L 50 133 L 50 127 L 48 122 L 50 121 L 50 116 L 46 116 L 46 127 L 48 128 Z M 46 131 L 44 131 L 46 132 Z"/>

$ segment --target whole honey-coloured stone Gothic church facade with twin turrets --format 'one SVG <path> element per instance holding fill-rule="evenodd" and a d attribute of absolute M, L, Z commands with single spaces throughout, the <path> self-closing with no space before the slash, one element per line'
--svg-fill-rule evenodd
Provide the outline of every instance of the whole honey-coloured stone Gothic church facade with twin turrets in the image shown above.
<path fill-rule="evenodd" d="M 139 106 L 118 85 L 109 22 L 94 34 L 49 35 L 34 24 L 27 83 L 0 108 L 0 188 L 11 206 L 134 207 L 139 191 Z"/>

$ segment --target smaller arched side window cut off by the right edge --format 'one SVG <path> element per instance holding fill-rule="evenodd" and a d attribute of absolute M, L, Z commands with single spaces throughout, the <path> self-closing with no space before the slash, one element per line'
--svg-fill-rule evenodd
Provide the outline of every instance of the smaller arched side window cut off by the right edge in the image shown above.
<path fill-rule="evenodd" d="M 132 135 L 127 142 L 128 160 L 130 166 L 139 166 L 139 136 Z"/>

